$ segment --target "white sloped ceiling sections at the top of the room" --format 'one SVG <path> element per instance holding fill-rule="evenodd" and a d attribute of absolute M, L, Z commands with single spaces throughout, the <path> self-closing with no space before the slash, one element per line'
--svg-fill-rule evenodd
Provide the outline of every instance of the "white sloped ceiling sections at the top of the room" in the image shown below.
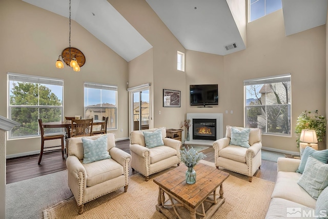
<path fill-rule="evenodd" d="M 22 1 L 69 17 L 68 0 Z M 183 47 L 219 55 L 245 49 L 227 1 L 146 0 Z M 325 24 L 327 0 L 282 0 L 282 7 L 286 35 Z M 152 48 L 107 0 L 71 0 L 71 18 L 127 62 Z M 237 48 L 227 51 L 232 43 Z"/>

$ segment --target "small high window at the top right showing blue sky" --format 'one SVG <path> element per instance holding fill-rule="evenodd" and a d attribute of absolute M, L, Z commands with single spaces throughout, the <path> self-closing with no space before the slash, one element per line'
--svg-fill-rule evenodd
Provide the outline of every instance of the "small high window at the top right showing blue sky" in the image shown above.
<path fill-rule="evenodd" d="M 249 0 L 249 21 L 252 22 L 281 8 L 281 0 Z"/>

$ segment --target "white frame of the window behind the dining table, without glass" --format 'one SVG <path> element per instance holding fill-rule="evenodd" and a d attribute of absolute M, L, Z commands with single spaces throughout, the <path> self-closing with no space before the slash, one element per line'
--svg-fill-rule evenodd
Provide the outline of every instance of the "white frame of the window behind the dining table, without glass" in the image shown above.
<path fill-rule="evenodd" d="M 99 89 L 100 90 L 100 106 L 92 106 L 92 105 L 87 105 L 86 106 L 86 93 L 85 93 L 85 89 L 86 88 L 92 88 L 92 89 Z M 113 90 L 115 91 L 115 107 L 104 107 L 102 106 L 102 101 L 101 101 L 101 90 Z M 87 118 L 86 116 L 86 110 L 87 109 L 114 109 L 114 113 L 115 113 L 115 127 L 113 128 L 108 128 L 108 125 L 110 125 L 111 123 L 111 117 L 108 118 L 108 124 L 107 124 L 107 130 L 117 130 L 118 129 L 118 121 L 117 121 L 117 86 L 116 85 L 109 85 L 109 84 L 101 84 L 101 83 L 95 83 L 95 82 L 84 82 L 84 117 Z M 87 97 L 88 98 L 88 97 Z M 103 113 L 103 112 L 101 112 Z"/>

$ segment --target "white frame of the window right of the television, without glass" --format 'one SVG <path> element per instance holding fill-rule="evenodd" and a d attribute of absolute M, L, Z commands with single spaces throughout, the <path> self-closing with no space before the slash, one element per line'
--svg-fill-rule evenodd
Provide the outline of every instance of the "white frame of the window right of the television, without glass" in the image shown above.
<path fill-rule="evenodd" d="M 290 82 L 290 98 L 289 103 L 285 104 L 267 104 L 267 93 L 265 93 L 265 103 L 262 105 L 247 105 L 247 86 L 251 85 L 264 85 L 264 84 L 273 84 L 279 82 Z M 291 113 L 292 113 L 292 79 L 291 74 L 281 74 L 269 77 L 261 77 L 261 78 L 254 78 L 254 79 L 247 79 L 244 80 L 244 127 L 248 127 L 248 108 L 261 108 L 264 107 L 265 110 L 265 132 L 262 130 L 262 134 L 265 135 L 275 135 L 275 136 L 286 136 L 292 137 L 292 120 L 291 120 Z M 289 132 L 290 133 L 279 133 L 279 132 L 267 132 L 268 131 L 268 106 L 287 106 L 288 108 L 288 120 L 289 120 Z"/>

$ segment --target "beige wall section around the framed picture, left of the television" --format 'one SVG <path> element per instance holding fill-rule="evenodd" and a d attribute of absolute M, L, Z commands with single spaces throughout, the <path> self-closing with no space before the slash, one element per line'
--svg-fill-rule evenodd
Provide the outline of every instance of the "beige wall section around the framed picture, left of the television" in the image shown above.
<path fill-rule="evenodd" d="M 186 73 L 177 70 L 177 51 L 185 48 L 146 1 L 108 2 L 153 46 L 154 127 L 180 128 L 186 117 Z M 163 89 L 180 90 L 181 107 L 163 107 Z"/>

